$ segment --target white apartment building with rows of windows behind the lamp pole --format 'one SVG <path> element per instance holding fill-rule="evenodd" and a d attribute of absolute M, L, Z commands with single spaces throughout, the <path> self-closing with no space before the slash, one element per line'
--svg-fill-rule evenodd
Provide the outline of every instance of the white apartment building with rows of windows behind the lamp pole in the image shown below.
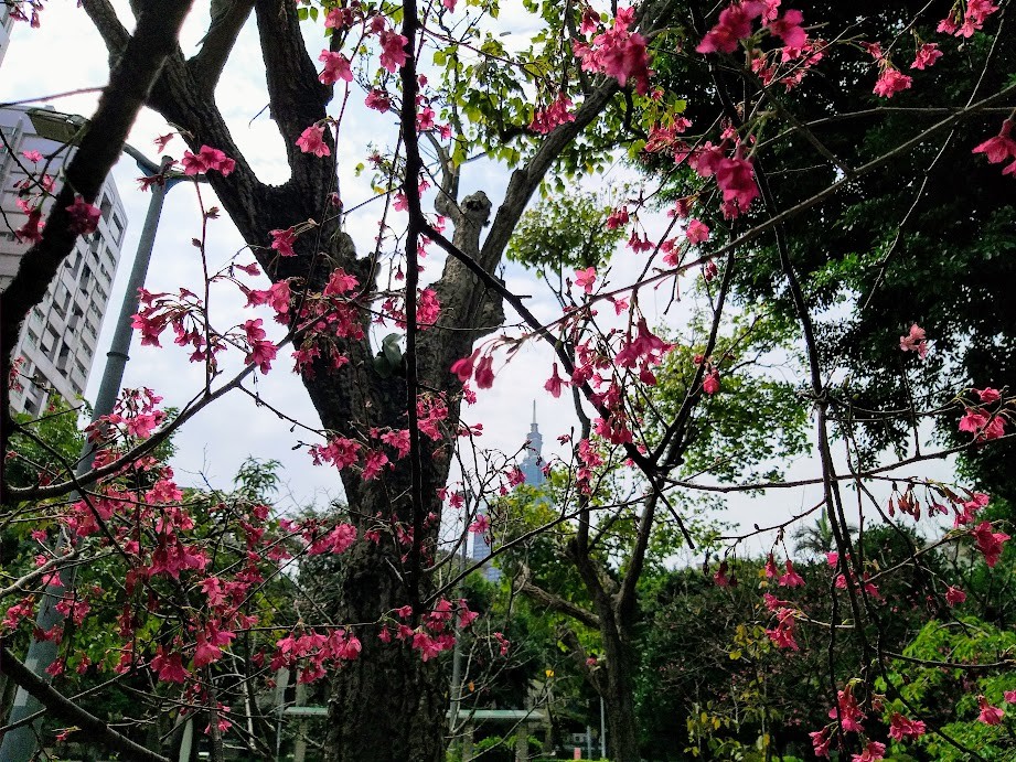
<path fill-rule="evenodd" d="M 47 171 L 56 178 L 57 187 L 61 168 L 73 155 L 73 149 L 62 150 L 61 143 L 35 132 L 32 110 L 38 109 L 0 109 L 0 130 L 6 140 L 0 144 L 0 210 L 4 215 L 0 217 L 0 292 L 10 285 L 29 249 L 29 244 L 14 235 L 26 217 L 13 189 L 25 178 L 22 167 L 32 169 L 23 152 L 35 150 L 50 157 L 61 151 Z M 95 203 L 103 212 L 98 229 L 78 238 L 42 303 L 21 326 L 15 356 L 25 361 L 21 379 L 24 390 L 11 394 L 11 407 L 19 412 L 39 415 L 53 393 L 74 403 L 87 386 L 127 227 L 127 215 L 111 179 L 107 178 Z"/>

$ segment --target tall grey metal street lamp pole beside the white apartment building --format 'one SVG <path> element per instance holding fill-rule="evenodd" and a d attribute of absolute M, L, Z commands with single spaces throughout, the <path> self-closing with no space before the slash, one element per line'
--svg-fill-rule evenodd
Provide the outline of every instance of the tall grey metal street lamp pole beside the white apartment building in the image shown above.
<path fill-rule="evenodd" d="M 165 174 L 173 163 L 170 157 L 164 157 L 161 165 L 157 167 L 129 146 L 125 147 L 124 151 L 137 160 L 138 167 L 148 175 L 154 173 Z M 120 305 L 120 315 L 113 334 L 113 344 L 106 355 L 106 366 L 103 368 L 103 379 L 99 384 L 95 408 L 92 412 L 93 421 L 113 412 L 113 406 L 120 391 L 124 369 L 129 359 L 127 353 L 130 350 L 132 336 L 131 318 L 138 311 L 138 289 L 145 285 L 145 278 L 148 275 L 148 265 L 151 261 L 152 248 L 156 244 L 156 230 L 159 227 L 159 218 L 162 215 L 162 203 L 169 190 L 181 180 L 182 178 L 179 175 L 167 175 L 162 184 L 157 183 L 151 187 L 151 201 L 148 203 L 148 214 L 145 217 L 145 227 L 141 229 L 141 240 L 138 242 L 138 253 L 135 256 L 130 279 L 127 282 L 127 292 L 124 294 L 124 302 Z M 93 450 L 92 444 L 86 441 L 75 470 L 77 476 L 83 476 L 90 470 Z M 74 494 L 73 498 L 76 497 L 79 497 L 77 493 Z M 62 547 L 57 548 L 57 552 Z M 72 579 L 67 582 L 68 587 L 73 587 L 73 571 L 69 572 Z M 63 594 L 64 586 L 51 584 L 46 588 L 44 600 L 35 619 L 36 627 L 47 631 L 63 622 L 64 615 L 56 611 L 56 603 L 63 598 Z M 25 666 L 44 679 L 50 679 L 45 670 L 56 661 L 57 645 L 52 641 L 33 638 L 29 646 L 28 656 L 24 659 Z M 14 696 L 14 704 L 11 708 L 8 725 L 22 722 L 41 709 L 42 705 L 24 688 L 19 687 Z M 0 744 L 0 760 L 2 762 L 30 762 L 35 753 L 36 734 L 41 723 L 42 718 L 40 717 L 34 722 L 8 731 L 3 737 L 3 743 Z"/>

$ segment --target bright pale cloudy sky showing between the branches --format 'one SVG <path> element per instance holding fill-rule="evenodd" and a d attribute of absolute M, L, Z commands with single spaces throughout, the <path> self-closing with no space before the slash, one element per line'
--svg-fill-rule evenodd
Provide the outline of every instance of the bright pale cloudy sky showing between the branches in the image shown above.
<path fill-rule="evenodd" d="M 122 6 L 124 3 L 120 3 Z M 189 19 L 182 35 L 182 47 L 191 54 L 204 33 L 207 23 L 206 11 L 199 10 Z M 512 15 L 512 7 L 506 6 L 502 14 L 505 28 L 511 29 L 513 19 L 520 22 L 518 29 L 532 25 L 525 14 Z M 121 18 L 127 20 L 121 10 Z M 129 24 L 128 24 L 129 25 Z M 308 30 L 308 36 L 320 30 Z M 518 35 L 515 39 L 522 39 Z M 512 43 L 512 37 L 507 39 Z M 320 39 L 311 45 L 321 44 Z M 314 47 L 311 47 L 314 50 Z M 60 51 L 58 56 L 54 51 Z M 96 88 L 107 81 L 107 57 L 105 46 L 84 11 L 68 2 L 49 3 L 42 14 L 42 28 L 29 29 L 17 24 L 12 43 L 0 69 L 0 103 L 42 95 L 58 94 L 79 88 Z M 217 104 L 231 125 L 234 139 L 258 176 L 265 182 L 285 182 L 288 167 L 281 138 L 274 122 L 267 117 L 267 96 L 264 87 L 264 66 L 257 44 L 256 30 L 248 22 L 240 34 L 238 44 L 223 74 L 223 81 L 216 94 Z M 56 109 L 66 112 L 89 115 L 97 101 L 95 94 L 76 95 L 49 100 Z M 359 99 L 355 94 L 351 101 Z M 340 161 L 340 187 L 346 207 L 372 196 L 366 175 L 356 178 L 353 168 L 365 161 L 370 153 L 372 140 L 378 135 L 394 135 L 391 115 L 376 115 L 354 104 L 344 120 L 340 140 L 342 157 Z M 129 142 L 146 154 L 156 158 L 154 139 L 170 131 L 164 120 L 150 110 L 145 110 L 133 129 Z M 182 141 L 171 142 L 168 152 L 174 157 L 183 151 Z M 384 146 L 378 146 L 384 148 Z M 110 304 L 118 304 L 122 298 L 125 281 L 130 269 L 133 251 L 145 217 L 149 196 L 140 192 L 136 184 L 139 176 L 135 163 L 126 157 L 114 170 L 120 196 L 127 210 L 129 226 L 124 244 L 120 265 L 117 272 Z M 610 180 L 622 181 L 630 175 L 621 167 L 614 168 Z M 507 182 L 507 170 L 491 162 L 472 162 L 463 174 L 462 195 L 473 190 L 484 190 L 496 208 L 500 195 Z M 214 205 L 214 194 L 208 187 L 202 189 L 205 206 Z M 372 244 L 377 229 L 379 212 L 377 204 L 367 204 L 361 212 L 351 215 L 346 229 L 357 243 L 361 251 Z M 299 221 L 293 221 L 299 222 Z M 197 250 L 191 239 L 200 234 L 200 207 L 194 189 L 186 183 L 174 187 L 167 197 L 162 214 L 156 249 L 147 281 L 150 291 L 174 291 L 181 286 L 195 288 L 203 282 Z M 213 269 L 221 267 L 236 256 L 239 262 L 249 262 L 253 257 L 243 251 L 240 239 L 228 217 L 213 221 L 208 228 L 207 250 Z M 266 242 L 267 244 L 268 242 Z M 435 253 L 426 260 L 429 273 L 440 272 L 441 257 Z M 638 275 L 642 262 L 630 251 L 619 253 L 614 257 L 613 275 L 616 282 L 631 282 Z M 532 273 L 509 265 L 504 272 L 506 285 L 515 292 L 532 294 L 527 305 L 543 319 L 556 316 L 556 304 L 545 287 L 535 280 Z M 628 280 L 625 281 L 625 277 Z M 267 280 L 253 280 L 257 288 L 266 288 Z M 669 292 L 646 289 L 641 297 L 641 304 L 650 324 L 663 321 L 680 321 L 682 308 L 676 313 L 663 315 Z M 221 316 L 221 326 L 240 323 L 252 316 L 249 310 L 243 309 L 243 299 L 235 289 L 221 289 L 214 292 L 213 310 Z M 107 314 L 99 344 L 99 357 L 105 355 L 111 337 L 116 309 Z M 270 323 L 268 313 L 259 313 Z M 510 315 L 511 320 L 512 315 Z M 270 335 L 269 335 L 270 337 Z M 185 354 L 164 342 L 162 350 L 140 347 L 135 341 L 131 359 L 125 377 L 125 386 L 148 386 L 164 398 L 164 405 L 181 406 L 197 393 L 203 383 L 203 366 L 186 362 Z M 480 393 L 479 403 L 466 409 L 467 422 L 482 422 L 484 447 L 515 452 L 524 443 L 532 416 L 532 403 L 536 400 L 537 417 L 544 434 L 545 457 L 560 452 L 556 437 L 571 430 L 575 425 L 574 410 L 569 395 L 554 399 L 544 388 L 549 376 L 552 355 L 542 344 L 527 343 L 507 365 L 503 357 L 495 362 L 496 383 L 490 390 Z M 229 365 L 225 366 L 227 369 Z M 236 367 L 233 365 L 232 367 Z M 320 425 L 310 400 L 298 377 L 289 373 L 288 352 L 281 352 L 276 362 L 276 369 L 257 379 L 257 389 L 261 397 L 287 416 L 308 423 Z M 93 368 L 86 396 L 94 399 L 100 376 L 99 362 Z M 282 464 L 284 490 L 280 505 L 323 505 L 331 498 L 341 497 L 338 474 L 330 468 L 311 464 L 306 448 L 300 442 L 311 442 L 307 434 L 290 430 L 285 420 L 278 419 L 267 409 L 258 409 L 248 396 L 233 393 L 211 406 L 196 419 L 184 426 L 175 436 L 178 454 L 172 461 L 179 481 L 188 485 L 207 482 L 216 487 L 228 489 L 232 476 L 248 455 L 263 460 L 277 460 Z M 297 448 L 297 449 L 295 449 Z M 814 476 L 816 464 L 805 459 L 791 468 L 795 477 Z M 790 513 L 796 513 L 802 506 L 812 505 L 819 500 L 819 487 L 795 491 L 791 494 L 777 494 L 763 500 L 749 500 L 740 496 L 727 501 L 728 511 L 723 516 L 742 527 L 752 524 L 776 523 Z M 761 547 L 761 546 L 757 546 Z"/>

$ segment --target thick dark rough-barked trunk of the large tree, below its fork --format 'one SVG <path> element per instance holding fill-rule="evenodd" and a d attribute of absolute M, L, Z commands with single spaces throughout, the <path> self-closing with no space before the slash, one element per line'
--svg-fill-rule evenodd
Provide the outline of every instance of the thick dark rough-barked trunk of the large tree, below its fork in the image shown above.
<path fill-rule="evenodd" d="M 335 255 L 346 261 L 352 259 L 347 237 L 339 237 Z M 482 297 L 463 289 L 462 282 L 456 287 L 454 291 L 462 294 L 460 302 L 451 298 L 442 301 L 442 311 L 449 310 L 448 319 L 454 316 L 456 308 L 462 310 L 463 303 L 475 310 L 479 302 L 482 309 Z M 500 310 L 495 311 L 489 316 L 496 321 Z M 368 319 L 366 315 L 365 321 Z M 397 619 L 394 609 L 411 604 L 420 613 L 429 608 L 427 601 L 434 588 L 425 570 L 435 561 L 440 527 L 441 501 L 437 493 L 448 479 L 459 420 L 458 388 L 448 371 L 449 356 L 468 354 L 475 335 L 470 331 L 453 336 L 429 332 L 421 335 L 427 342 L 440 340 L 445 344 L 440 351 L 431 348 L 421 355 L 418 371 L 427 388 L 447 391 L 443 404 L 448 416 L 442 439 L 420 438 L 420 494 L 413 494 L 409 458 L 392 458 L 383 472 L 370 481 L 364 481 L 356 469 L 342 471 L 350 520 L 360 539 L 342 557 L 333 616 L 336 622 L 359 625 L 353 629 L 363 650 L 332 681 L 325 739 L 329 762 L 443 760 L 448 695 L 437 659 L 425 663 L 420 651 L 413 650 L 408 641 L 393 638 L 384 643 L 378 634 L 382 618 L 389 622 Z M 334 369 L 328 358 L 322 358 L 316 361 L 313 375 L 304 378 L 324 427 L 360 441 L 372 429 L 405 429 L 405 378 L 382 377 L 374 369 L 366 342 L 347 342 L 342 351 L 349 357 L 343 367 Z M 420 523 L 420 518 L 424 530 L 418 538 L 420 558 L 415 568 L 411 538 L 415 519 Z M 377 540 L 367 539 L 367 533 L 376 533 Z"/>

